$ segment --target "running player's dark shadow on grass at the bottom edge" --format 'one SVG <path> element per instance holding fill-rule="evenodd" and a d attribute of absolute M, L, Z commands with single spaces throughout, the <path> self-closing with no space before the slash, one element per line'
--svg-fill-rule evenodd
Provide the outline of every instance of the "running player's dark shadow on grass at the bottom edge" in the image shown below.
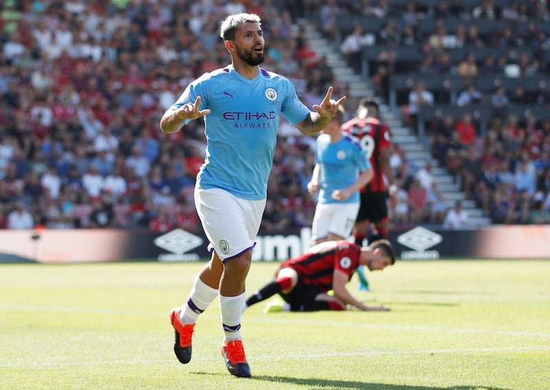
<path fill-rule="evenodd" d="M 287 376 L 253 376 L 253 379 L 271 380 L 277 383 L 289 383 L 292 385 L 312 386 L 315 389 L 349 389 L 349 390 L 511 390 L 502 387 L 483 386 L 408 386 L 408 385 L 387 385 L 385 383 L 357 382 L 355 380 L 326 380 L 326 379 L 303 379 L 289 378 Z"/>

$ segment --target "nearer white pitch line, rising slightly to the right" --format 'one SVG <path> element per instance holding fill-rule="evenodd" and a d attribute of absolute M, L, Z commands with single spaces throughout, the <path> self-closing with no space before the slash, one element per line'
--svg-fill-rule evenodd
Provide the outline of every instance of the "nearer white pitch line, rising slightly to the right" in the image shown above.
<path fill-rule="evenodd" d="M 285 355 L 258 355 L 248 356 L 250 360 L 287 360 L 287 359 L 320 359 L 320 358 L 341 358 L 349 356 L 393 356 L 393 355 L 423 355 L 423 354 L 464 354 L 482 352 L 534 352 L 550 351 L 550 347 L 502 347 L 502 348 L 465 348 L 465 349 L 426 349 L 424 351 L 364 351 L 364 352 L 336 352 L 329 354 L 285 354 Z M 194 357 L 193 362 L 209 362 L 219 358 Z M 39 367 L 71 367 L 91 365 L 148 365 L 156 363 L 175 363 L 175 359 L 144 359 L 144 360 L 101 360 L 91 362 L 67 362 L 67 363 L 16 363 L 0 364 L 0 368 L 39 368 Z"/>

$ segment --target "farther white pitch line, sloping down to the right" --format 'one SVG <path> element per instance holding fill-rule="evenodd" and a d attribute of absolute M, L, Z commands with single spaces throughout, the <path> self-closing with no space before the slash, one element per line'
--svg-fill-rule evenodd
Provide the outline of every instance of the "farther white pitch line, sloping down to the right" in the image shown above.
<path fill-rule="evenodd" d="M 115 314 L 115 315 L 139 315 L 146 317 L 168 316 L 166 313 L 160 312 L 139 312 L 133 310 L 116 310 L 116 309 L 98 309 L 98 308 L 71 308 L 71 307 L 59 307 L 59 306 L 41 306 L 41 305 L 14 305 L 9 303 L 0 303 L 0 310 L 36 310 L 47 312 L 84 312 L 84 313 L 96 313 L 96 314 Z M 270 317 L 269 315 L 267 317 Z M 210 314 L 202 314 L 203 319 L 219 319 L 219 316 Z M 288 324 L 300 324 L 300 325 L 318 325 L 318 321 L 307 320 L 294 320 L 294 319 L 276 319 L 271 318 L 259 318 L 259 317 L 246 317 L 244 314 L 243 322 L 265 322 L 265 323 L 284 323 Z M 527 337 L 542 337 L 544 339 L 550 339 L 550 333 L 544 332 L 519 332 L 514 330 L 487 330 L 487 329 L 467 329 L 467 328 L 444 328 L 437 326 L 420 326 L 420 325 L 395 325 L 395 324 L 380 324 L 380 323 L 345 323 L 338 321 L 330 321 L 324 323 L 325 326 L 335 326 L 341 328 L 347 326 L 350 328 L 380 328 L 380 329 L 398 329 L 398 330 L 416 330 L 425 332 L 457 332 L 457 333 L 477 333 L 477 334 L 505 334 L 507 336 L 527 336 Z"/>

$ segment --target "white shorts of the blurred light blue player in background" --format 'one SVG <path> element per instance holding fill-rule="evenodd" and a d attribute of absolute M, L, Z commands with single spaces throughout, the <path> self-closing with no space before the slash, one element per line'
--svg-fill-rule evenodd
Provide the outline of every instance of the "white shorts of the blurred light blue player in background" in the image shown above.
<path fill-rule="evenodd" d="M 311 239 L 321 240 L 332 233 L 347 240 L 358 212 L 359 203 L 319 203 L 311 225 Z"/>

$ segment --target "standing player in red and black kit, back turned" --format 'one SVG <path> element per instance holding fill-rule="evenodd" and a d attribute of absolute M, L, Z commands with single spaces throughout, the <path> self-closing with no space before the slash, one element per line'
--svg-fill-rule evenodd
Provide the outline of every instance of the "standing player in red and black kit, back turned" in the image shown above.
<path fill-rule="evenodd" d="M 376 100 L 363 98 L 359 102 L 357 115 L 342 125 L 342 130 L 360 139 L 374 171 L 373 179 L 361 192 L 361 205 L 353 227 L 355 244 L 360 246 L 365 238 L 369 243 L 388 238 L 388 196 L 390 207 L 394 208 L 397 204 L 397 185 L 390 165 L 390 130 L 380 121 L 379 115 L 380 106 Z M 371 234 L 367 237 L 369 223 L 374 228 L 369 229 Z M 360 289 L 369 290 L 369 282 L 362 268 L 358 269 L 358 277 Z"/>

